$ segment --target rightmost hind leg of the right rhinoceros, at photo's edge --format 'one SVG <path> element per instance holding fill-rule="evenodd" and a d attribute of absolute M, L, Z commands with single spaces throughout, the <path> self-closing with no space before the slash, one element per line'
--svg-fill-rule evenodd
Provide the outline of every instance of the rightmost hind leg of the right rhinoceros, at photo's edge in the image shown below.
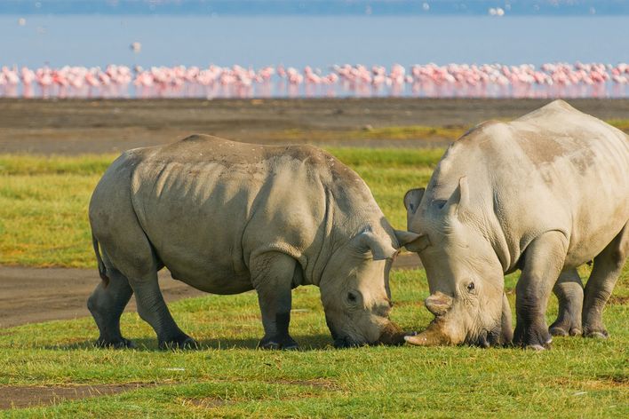
<path fill-rule="evenodd" d="M 594 257 L 594 267 L 585 285 L 583 304 L 583 336 L 607 338 L 609 336 L 602 321 L 602 312 L 618 275 L 629 254 L 629 225 L 617 234 L 613 241 Z"/>

